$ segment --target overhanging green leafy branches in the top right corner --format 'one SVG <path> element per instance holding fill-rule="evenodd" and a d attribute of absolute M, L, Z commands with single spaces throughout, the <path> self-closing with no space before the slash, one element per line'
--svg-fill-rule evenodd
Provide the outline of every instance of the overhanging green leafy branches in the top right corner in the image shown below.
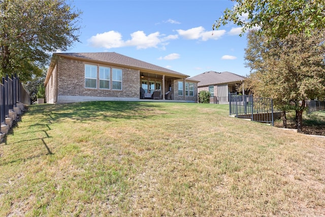
<path fill-rule="evenodd" d="M 228 22 L 242 26 L 243 33 L 259 28 L 259 33 L 272 38 L 285 38 L 314 28 L 325 27 L 324 0 L 231 0 L 233 8 L 225 9 L 213 29 Z"/>

